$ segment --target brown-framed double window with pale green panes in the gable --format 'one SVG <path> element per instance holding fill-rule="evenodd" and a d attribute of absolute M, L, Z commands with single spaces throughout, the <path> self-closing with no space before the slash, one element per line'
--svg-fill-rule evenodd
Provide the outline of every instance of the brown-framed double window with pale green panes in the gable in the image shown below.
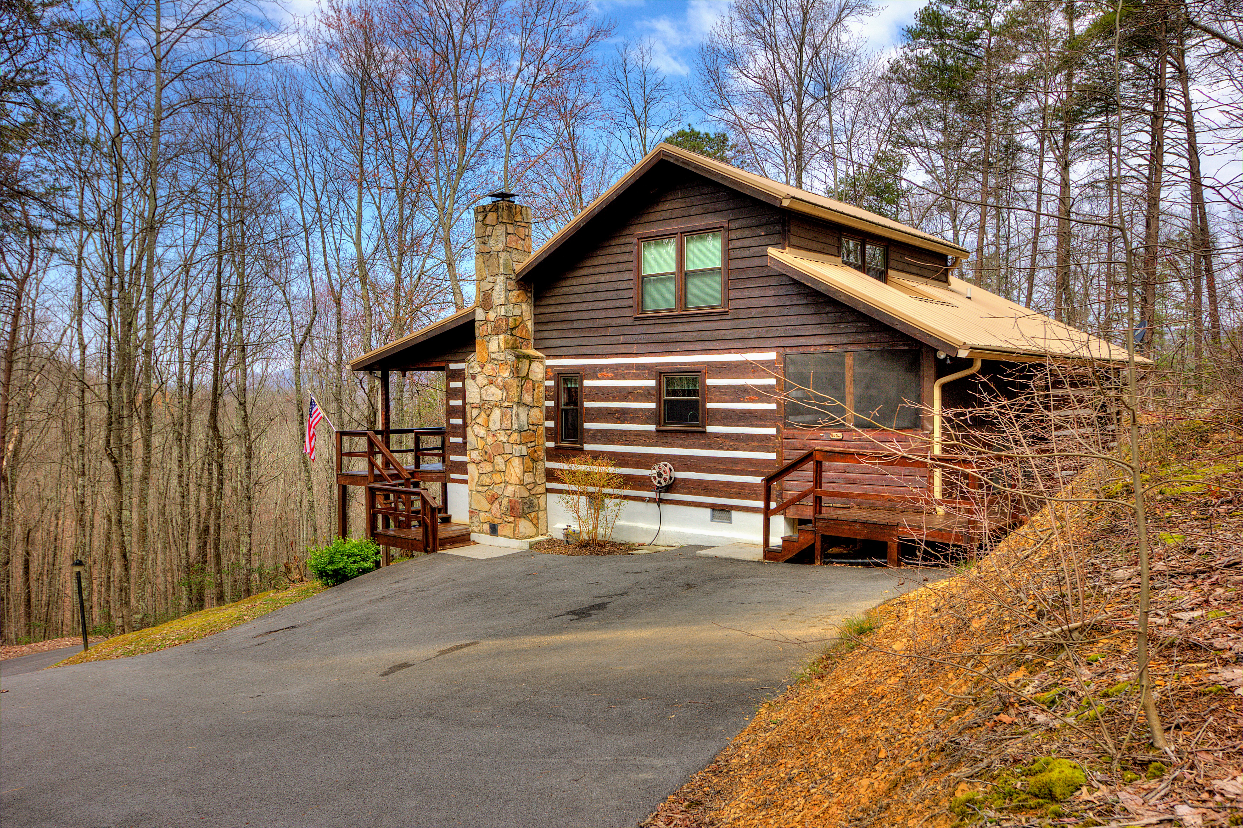
<path fill-rule="evenodd" d="M 677 313 L 725 307 L 725 230 L 639 239 L 638 312 Z"/>

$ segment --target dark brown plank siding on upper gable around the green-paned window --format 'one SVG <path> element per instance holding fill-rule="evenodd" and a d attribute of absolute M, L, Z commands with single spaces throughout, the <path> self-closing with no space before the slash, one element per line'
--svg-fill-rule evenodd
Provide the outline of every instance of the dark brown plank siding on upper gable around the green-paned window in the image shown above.
<path fill-rule="evenodd" d="M 910 342 L 768 267 L 768 247 L 784 241 L 786 216 L 779 206 L 674 164 L 655 167 L 630 193 L 638 195 L 618 199 L 579 231 L 584 242 L 577 250 L 559 252 L 541 269 L 536 348 L 549 359 Z M 730 310 L 635 318 L 635 234 L 713 221 L 730 223 Z"/>

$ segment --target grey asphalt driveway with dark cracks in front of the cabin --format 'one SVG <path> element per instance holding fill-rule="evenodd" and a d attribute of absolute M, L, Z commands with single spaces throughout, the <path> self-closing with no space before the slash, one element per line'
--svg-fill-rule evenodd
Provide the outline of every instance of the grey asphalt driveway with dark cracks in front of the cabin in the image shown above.
<path fill-rule="evenodd" d="M 399 563 L 170 650 L 4 676 L 0 822 L 634 826 L 810 655 L 767 639 L 823 639 L 925 577 Z"/>

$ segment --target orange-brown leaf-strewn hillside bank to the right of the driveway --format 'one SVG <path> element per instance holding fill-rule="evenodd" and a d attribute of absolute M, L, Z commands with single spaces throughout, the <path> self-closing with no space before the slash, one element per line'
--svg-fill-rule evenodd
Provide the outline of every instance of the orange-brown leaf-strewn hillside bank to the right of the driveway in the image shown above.
<path fill-rule="evenodd" d="M 848 625 L 641 824 L 1243 824 L 1239 423 L 1154 454 L 1150 479 L 1173 479 L 1146 500 L 1167 750 L 1135 683 L 1134 511 L 1093 502 L 1130 486 L 1088 471 L 1064 492 L 1085 502 Z"/>

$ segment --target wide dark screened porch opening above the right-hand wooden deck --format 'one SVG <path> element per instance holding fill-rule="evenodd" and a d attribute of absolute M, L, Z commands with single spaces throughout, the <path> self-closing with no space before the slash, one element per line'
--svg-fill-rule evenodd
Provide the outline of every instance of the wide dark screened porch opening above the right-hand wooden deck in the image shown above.
<path fill-rule="evenodd" d="M 786 354 L 786 423 L 804 429 L 920 428 L 920 352 Z"/>

